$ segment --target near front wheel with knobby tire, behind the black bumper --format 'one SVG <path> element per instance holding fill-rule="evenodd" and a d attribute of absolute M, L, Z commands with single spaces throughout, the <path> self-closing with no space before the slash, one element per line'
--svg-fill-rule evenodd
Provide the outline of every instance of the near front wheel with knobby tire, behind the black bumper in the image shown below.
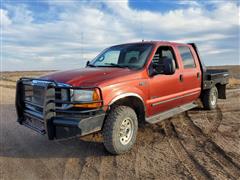
<path fill-rule="evenodd" d="M 130 125 L 127 124 L 128 121 L 126 120 L 129 121 L 132 127 L 131 136 L 129 135 L 128 139 L 126 138 L 129 133 L 127 128 L 130 127 Z M 120 129 L 120 127 L 124 128 Z M 132 108 L 127 106 L 117 106 L 113 108 L 108 114 L 103 127 L 103 143 L 105 148 L 112 154 L 122 154 L 129 151 L 136 141 L 137 130 L 137 115 Z M 123 138 L 121 138 L 122 136 Z M 128 141 L 125 141 L 124 138 Z"/>

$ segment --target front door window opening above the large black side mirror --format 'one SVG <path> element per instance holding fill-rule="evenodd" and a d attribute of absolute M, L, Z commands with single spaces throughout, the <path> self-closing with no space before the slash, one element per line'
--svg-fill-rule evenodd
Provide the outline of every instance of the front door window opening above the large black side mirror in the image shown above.
<path fill-rule="evenodd" d="M 176 69 L 178 69 L 178 64 L 177 64 L 177 61 L 176 61 L 176 56 L 175 56 L 174 50 L 170 46 L 160 46 L 158 48 L 158 50 L 156 51 L 156 53 L 155 53 L 155 55 L 152 59 L 152 62 L 157 63 L 164 56 L 173 59 L 174 62 L 175 62 L 175 65 L 176 65 Z"/>

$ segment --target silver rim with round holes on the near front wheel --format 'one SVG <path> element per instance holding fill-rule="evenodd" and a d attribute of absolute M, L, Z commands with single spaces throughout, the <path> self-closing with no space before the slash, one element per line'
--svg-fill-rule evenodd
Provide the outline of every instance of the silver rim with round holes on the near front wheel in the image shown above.
<path fill-rule="evenodd" d="M 133 136 L 133 121 L 131 118 L 126 118 L 120 125 L 119 138 L 122 145 L 128 144 Z"/>

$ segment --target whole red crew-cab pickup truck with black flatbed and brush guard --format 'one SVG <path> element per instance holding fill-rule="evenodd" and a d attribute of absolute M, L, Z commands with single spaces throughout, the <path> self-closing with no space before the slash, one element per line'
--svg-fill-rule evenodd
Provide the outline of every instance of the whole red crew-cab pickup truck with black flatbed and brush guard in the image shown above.
<path fill-rule="evenodd" d="M 67 62 L 66 62 L 67 63 Z M 101 131 L 113 154 L 130 150 L 140 123 L 157 123 L 226 99 L 228 71 L 208 70 L 195 44 L 112 46 L 86 68 L 17 82 L 18 122 L 50 140 Z"/>

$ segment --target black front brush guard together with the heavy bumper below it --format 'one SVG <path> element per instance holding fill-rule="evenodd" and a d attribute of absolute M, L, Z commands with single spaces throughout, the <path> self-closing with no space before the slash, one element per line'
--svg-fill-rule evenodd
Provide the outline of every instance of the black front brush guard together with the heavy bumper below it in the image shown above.
<path fill-rule="evenodd" d="M 34 83 L 38 82 L 38 83 Z M 62 91 L 71 89 L 98 89 L 98 87 L 71 87 L 59 85 L 52 80 L 21 78 L 17 82 L 16 110 L 18 122 L 50 140 L 86 135 L 102 129 L 105 111 L 74 108 L 74 104 L 92 104 L 103 101 L 74 101 L 62 99 Z M 65 94 L 66 95 L 66 94 Z"/>

